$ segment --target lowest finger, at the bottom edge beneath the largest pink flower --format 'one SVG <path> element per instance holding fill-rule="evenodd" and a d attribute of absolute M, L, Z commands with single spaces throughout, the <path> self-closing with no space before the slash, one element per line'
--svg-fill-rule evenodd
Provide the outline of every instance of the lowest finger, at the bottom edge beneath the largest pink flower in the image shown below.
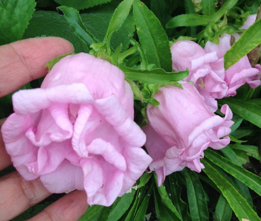
<path fill-rule="evenodd" d="M 86 201 L 85 191 L 72 191 L 28 221 L 77 221 L 88 208 Z"/>

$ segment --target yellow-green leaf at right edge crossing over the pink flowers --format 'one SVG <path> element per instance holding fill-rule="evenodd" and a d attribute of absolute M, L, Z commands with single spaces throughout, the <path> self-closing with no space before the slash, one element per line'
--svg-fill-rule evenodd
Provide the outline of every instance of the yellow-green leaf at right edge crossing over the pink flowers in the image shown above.
<path fill-rule="evenodd" d="M 261 43 L 261 19 L 250 26 L 224 54 L 224 66 L 228 69 Z"/>

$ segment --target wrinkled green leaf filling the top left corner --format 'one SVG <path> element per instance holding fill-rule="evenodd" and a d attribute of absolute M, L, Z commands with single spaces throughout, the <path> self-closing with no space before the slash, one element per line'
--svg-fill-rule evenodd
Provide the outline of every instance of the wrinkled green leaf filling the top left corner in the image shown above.
<path fill-rule="evenodd" d="M 5 0 L 0 2 L 0 45 L 21 40 L 35 11 L 34 0 Z"/>

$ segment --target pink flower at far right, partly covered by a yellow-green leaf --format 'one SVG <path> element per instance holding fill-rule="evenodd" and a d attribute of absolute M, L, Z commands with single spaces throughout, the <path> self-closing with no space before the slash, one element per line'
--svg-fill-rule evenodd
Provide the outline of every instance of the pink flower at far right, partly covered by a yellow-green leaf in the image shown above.
<path fill-rule="evenodd" d="M 238 40 L 240 37 L 237 33 L 234 33 L 233 36 Z M 204 47 L 204 50 L 207 53 L 216 52 L 219 60 L 223 62 L 219 63 L 219 60 L 216 62 L 211 62 L 210 66 L 214 72 L 217 72 L 219 65 L 224 67 L 223 56 L 227 50 L 231 48 L 230 46 L 231 35 L 224 34 L 219 38 L 219 44 L 216 45 L 213 42 L 208 41 Z M 225 78 L 228 90 L 226 91 L 225 97 L 235 96 L 236 89 L 240 86 L 248 83 L 251 88 L 256 88 L 260 85 L 260 74 L 261 66 L 256 64 L 254 68 L 251 67 L 248 57 L 245 56 L 241 58 L 236 64 L 231 66 L 225 71 Z"/>

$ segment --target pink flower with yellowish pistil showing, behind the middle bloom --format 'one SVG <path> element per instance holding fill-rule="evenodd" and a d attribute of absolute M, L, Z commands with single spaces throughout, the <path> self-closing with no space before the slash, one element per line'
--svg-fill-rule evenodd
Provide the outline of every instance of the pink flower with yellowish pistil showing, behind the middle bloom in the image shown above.
<path fill-rule="evenodd" d="M 170 47 L 170 51 L 173 70 L 189 69 L 190 74 L 184 80 L 194 83 L 206 105 L 214 113 L 217 110 L 215 98 L 223 98 L 227 91 L 223 58 L 219 60 L 215 51 L 206 53 L 200 45 L 190 40 L 177 41 Z M 215 71 L 209 65 L 213 62 L 217 64 Z"/>

